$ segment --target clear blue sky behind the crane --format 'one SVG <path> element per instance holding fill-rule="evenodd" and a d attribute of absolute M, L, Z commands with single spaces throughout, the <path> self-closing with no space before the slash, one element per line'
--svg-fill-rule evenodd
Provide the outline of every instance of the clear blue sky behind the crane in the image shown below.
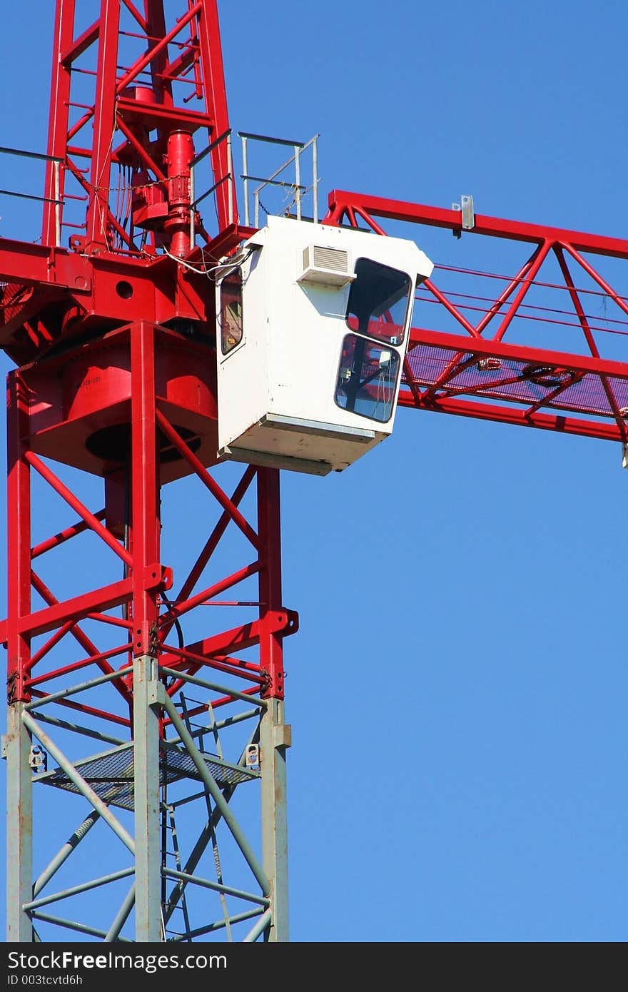
<path fill-rule="evenodd" d="M 0 144 L 44 151 L 35 6 L 28 60 L 0 15 Z M 471 193 L 626 236 L 623 4 L 220 10 L 232 127 L 320 132 L 323 202 Z M 408 236 L 477 266 L 471 236 Z M 413 411 L 345 473 L 284 473 L 293 939 L 626 938 L 627 484 L 618 445 Z"/>

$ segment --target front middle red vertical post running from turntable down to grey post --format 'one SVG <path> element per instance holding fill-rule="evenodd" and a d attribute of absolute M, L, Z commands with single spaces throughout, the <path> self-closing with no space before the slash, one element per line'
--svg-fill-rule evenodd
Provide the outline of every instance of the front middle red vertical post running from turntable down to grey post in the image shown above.
<path fill-rule="evenodd" d="M 133 653 L 155 655 L 157 591 L 147 589 L 159 553 L 158 461 L 155 427 L 155 328 L 131 327 L 131 534 L 133 542 Z"/>

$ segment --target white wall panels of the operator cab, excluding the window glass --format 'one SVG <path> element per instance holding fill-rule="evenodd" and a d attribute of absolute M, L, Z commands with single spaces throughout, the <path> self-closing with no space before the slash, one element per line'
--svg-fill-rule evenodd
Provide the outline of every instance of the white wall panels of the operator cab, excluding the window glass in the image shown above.
<path fill-rule="evenodd" d="M 343 286 L 310 281 L 326 280 L 324 272 L 298 281 L 313 245 L 346 253 Z M 246 452 L 257 450 L 267 456 L 258 460 L 319 473 L 344 468 L 391 433 L 395 409 L 393 403 L 390 419 L 380 423 L 334 401 L 342 342 L 351 333 L 345 318 L 355 262 L 368 258 L 407 273 L 411 300 L 417 275 L 429 276 L 432 263 L 414 242 L 279 217 L 268 218 L 243 256 L 243 337 L 227 355 L 220 353 L 218 326 L 220 451 L 253 460 Z M 341 282 L 343 275 L 328 278 Z M 218 283 L 218 324 L 219 298 Z M 407 322 L 411 314 L 412 307 Z M 401 361 L 407 330 L 396 349 Z"/>

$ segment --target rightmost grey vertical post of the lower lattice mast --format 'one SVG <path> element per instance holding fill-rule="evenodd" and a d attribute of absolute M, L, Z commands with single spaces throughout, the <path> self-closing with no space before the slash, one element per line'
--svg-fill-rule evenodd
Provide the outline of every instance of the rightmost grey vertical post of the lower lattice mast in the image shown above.
<path fill-rule="evenodd" d="M 270 941 L 290 939 L 288 927 L 288 822 L 284 702 L 272 699 L 260 723 L 262 864 L 273 887 Z"/>

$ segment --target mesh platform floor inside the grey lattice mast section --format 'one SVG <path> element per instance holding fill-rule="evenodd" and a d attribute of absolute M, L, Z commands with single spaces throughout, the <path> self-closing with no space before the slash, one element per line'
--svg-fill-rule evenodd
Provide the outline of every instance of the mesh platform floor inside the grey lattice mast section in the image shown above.
<path fill-rule="evenodd" d="M 207 770 L 219 786 L 237 786 L 242 782 L 258 778 L 257 773 L 229 765 L 213 755 L 203 757 Z M 124 744 L 122 747 L 107 751 L 104 754 L 85 758 L 76 762 L 74 767 L 103 803 L 107 803 L 109 806 L 122 806 L 124 809 L 134 808 L 132 744 Z M 186 751 L 182 751 L 174 745 L 162 745 L 160 785 L 179 782 L 181 779 L 192 779 L 200 782 L 196 766 Z M 36 775 L 33 777 L 33 781 L 79 795 L 78 789 L 61 768 Z"/>

